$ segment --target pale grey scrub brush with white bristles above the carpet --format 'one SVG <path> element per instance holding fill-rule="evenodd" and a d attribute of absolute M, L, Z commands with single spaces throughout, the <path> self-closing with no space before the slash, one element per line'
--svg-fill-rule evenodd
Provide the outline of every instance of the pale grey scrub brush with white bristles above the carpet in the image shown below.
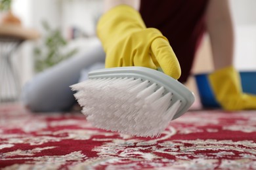
<path fill-rule="evenodd" d="M 91 71 L 71 88 L 93 126 L 138 137 L 158 137 L 194 103 L 183 84 L 146 67 Z"/>

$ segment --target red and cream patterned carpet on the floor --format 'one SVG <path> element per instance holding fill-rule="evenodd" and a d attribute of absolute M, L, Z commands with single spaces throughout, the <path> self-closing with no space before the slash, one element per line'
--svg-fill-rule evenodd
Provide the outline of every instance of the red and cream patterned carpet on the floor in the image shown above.
<path fill-rule="evenodd" d="M 0 169 L 256 169 L 255 142 L 256 111 L 190 111 L 150 139 L 0 106 Z"/>

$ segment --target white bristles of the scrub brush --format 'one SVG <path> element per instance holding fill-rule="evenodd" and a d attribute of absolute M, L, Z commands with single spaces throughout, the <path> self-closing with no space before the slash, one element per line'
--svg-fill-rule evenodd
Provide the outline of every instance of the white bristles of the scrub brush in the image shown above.
<path fill-rule="evenodd" d="M 89 79 L 71 87 L 94 126 L 140 137 L 159 136 L 181 106 L 164 87 L 140 78 Z"/>

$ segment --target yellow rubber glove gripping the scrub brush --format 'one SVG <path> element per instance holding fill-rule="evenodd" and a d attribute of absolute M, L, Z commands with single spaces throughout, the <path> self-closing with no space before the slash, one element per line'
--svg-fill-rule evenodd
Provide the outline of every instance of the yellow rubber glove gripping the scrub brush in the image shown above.
<path fill-rule="evenodd" d="M 168 40 L 155 28 L 146 28 L 139 12 L 127 5 L 108 10 L 97 24 L 97 34 L 106 52 L 106 68 L 142 66 L 178 79 L 179 61 Z"/>

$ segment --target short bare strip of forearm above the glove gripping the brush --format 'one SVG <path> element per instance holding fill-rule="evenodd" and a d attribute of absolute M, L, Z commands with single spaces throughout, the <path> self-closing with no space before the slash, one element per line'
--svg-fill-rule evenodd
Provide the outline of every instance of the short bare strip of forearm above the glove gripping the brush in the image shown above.
<path fill-rule="evenodd" d="M 104 12 L 116 7 L 117 5 L 129 5 L 139 10 L 140 0 L 104 0 Z"/>

